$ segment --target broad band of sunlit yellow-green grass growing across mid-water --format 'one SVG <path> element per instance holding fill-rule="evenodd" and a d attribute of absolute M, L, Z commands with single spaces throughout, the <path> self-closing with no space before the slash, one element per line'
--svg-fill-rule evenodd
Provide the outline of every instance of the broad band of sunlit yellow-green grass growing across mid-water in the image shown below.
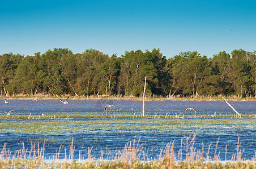
<path fill-rule="evenodd" d="M 111 118 L 112 117 L 112 118 Z M 94 130 L 147 130 L 186 134 L 225 134 L 229 131 L 256 130 L 255 118 L 135 118 L 133 115 L 1 115 L 1 133 L 71 134 Z M 228 130 L 227 130 L 228 129 Z M 214 133 L 212 133 L 214 131 Z"/>

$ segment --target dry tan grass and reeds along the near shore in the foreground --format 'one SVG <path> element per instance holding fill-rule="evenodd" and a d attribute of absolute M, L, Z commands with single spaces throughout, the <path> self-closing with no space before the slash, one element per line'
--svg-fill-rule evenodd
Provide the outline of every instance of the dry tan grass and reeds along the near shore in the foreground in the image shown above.
<path fill-rule="evenodd" d="M 238 140 L 239 143 L 239 140 Z M 217 146 L 217 143 L 216 143 Z M 247 161 L 242 161 L 241 150 L 239 144 L 237 153 L 233 155 L 231 161 L 220 161 L 219 155 L 214 157 L 203 158 L 203 149 L 195 150 L 190 147 L 190 152 L 186 153 L 186 158 L 182 159 L 182 151 L 178 155 L 174 153 L 174 141 L 167 144 L 165 150 L 158 155 L 158 159 L 147 159 L 142 149 L 138 148 L 135 143 L 125 145 L 122 152 L 118 151 L 114 155 L 107 155 L 104 159 L 103 152 L 100 159 L 95 159 L 91 155 L 92 148 L 88 148 L 87 158 L 79 151 L 79 159 L 74 159 L 73 141 L 69 148 L 69 154 L 65 158 L 59 158 L 61 146 L 56 155 L 52 158 L 45 158 L 45 144 L 37 147 L 31 144 L 31 150 L 23 148 L 11 153 L 6 149 L 6 144 L 0 150 L 0 166 L 1 168 L 256 168 L 256 152 L 253 158 Z"/>

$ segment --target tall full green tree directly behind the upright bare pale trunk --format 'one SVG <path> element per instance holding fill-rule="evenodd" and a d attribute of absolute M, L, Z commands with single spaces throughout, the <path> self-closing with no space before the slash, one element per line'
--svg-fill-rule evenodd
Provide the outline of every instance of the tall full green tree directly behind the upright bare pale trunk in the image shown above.
<path fill-rule="evenodd" d="M 126 51 L 125 55 L 122 55 L 120 85 L 126 96 L 142 95 L 145 76 L 148 82 L 146 94 L 152 94 L 152 84 L 158 81 L 152 56 L 150 52 L 146 51 L 146 54 L 143 54 L 140 50 Z"/>

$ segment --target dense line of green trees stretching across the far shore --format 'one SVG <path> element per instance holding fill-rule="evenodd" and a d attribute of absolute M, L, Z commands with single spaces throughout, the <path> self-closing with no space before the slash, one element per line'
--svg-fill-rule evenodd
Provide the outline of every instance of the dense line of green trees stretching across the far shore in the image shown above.
<path fill-rule="evenodd" d="M 75 96 L 256 96 L 256 51 L 198 52 L 163 56 L 159 49 L 105 55 L 89 49 L 73 54 L 54 48 L 33 56 L 0 55 L 1 96 L 51 94 Z"/>

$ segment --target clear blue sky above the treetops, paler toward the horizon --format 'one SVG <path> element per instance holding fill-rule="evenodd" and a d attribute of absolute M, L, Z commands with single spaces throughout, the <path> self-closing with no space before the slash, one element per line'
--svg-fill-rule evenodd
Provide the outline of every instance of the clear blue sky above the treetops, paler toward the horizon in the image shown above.
<path fill-rule="evenodd" d="M 0 55 L 256 50 L 256 1 L 0 1 Z"/>

